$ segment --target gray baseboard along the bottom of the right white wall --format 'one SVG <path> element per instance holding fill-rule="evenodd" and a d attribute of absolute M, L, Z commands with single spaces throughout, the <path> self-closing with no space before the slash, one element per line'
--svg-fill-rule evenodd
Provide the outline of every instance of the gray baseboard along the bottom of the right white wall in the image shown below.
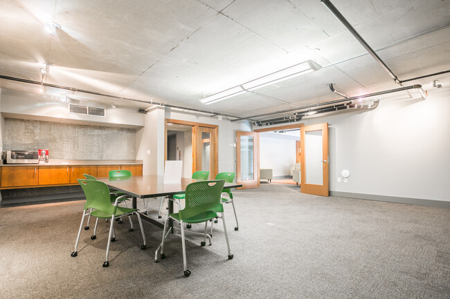
<path fill-rule="evenodd" d="M 359 200 L 375 200 L 377 202 L 395 202 L 397 204 L 415 204 L 417 206 L 432 206 L 434 208 L 450 209 L 450 202 L 444 202 L 442 200 L 422 200 L 420 198 L 395 197 L 395 196 L 349 193 L 339 191 L 330 191 L 330 195 L 336 197 L 357 198 Z"/>

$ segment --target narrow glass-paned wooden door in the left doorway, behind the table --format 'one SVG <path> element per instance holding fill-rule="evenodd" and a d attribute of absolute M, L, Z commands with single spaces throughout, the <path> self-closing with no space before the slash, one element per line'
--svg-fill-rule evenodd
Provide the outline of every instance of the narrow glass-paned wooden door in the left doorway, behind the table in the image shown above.
<path fill-rule="evenodd" d="M 195 171 L 209 171 L 209 177 L 215 177 L 217 162 L 217 144 L 215 128 L 199 126 L 195 146 Z M 195 171 L 192 171 L 195 172 Z"/>

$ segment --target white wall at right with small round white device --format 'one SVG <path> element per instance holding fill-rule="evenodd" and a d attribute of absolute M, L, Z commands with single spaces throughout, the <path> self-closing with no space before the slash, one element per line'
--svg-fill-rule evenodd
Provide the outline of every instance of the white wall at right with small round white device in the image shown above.
<path fill-rule="evenodd" d="M 450 201 L 449 88 L 303 122 L 329 124 L 330 191 Z M 337 182 L 343 169 L 347 183 Z"/>

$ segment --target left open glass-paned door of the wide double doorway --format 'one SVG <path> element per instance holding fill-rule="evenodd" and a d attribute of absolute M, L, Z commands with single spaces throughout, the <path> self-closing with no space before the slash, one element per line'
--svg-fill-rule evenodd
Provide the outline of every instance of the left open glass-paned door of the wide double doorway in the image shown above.
<path fill-rule="evenodd" d="M 242 184 L 239 189 L 260 186 L 259 139 L 255 132 L 236 132 L 236 182 Z"/>

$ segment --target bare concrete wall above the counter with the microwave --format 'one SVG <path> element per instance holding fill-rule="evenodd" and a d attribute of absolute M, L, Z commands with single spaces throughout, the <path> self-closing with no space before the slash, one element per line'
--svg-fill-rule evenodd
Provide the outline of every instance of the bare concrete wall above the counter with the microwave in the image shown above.
<path fill-rule="evenodd" d="M 5 118 L 4 151 L 39 148 L 51 159 L 134 160 L 136 130 Z"/>

